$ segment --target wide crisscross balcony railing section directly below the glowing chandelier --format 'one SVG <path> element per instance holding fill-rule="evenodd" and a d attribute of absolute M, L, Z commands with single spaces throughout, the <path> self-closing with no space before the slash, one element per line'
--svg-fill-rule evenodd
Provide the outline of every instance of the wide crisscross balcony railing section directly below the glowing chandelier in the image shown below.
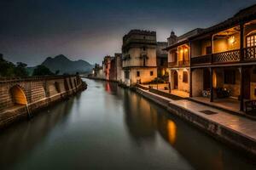
<path fill-rule="evenodd" d="M 240 49 L 213 54 L 212 56 L 213 63 L 227 63 L 236 61 L 240 61 Z"/>

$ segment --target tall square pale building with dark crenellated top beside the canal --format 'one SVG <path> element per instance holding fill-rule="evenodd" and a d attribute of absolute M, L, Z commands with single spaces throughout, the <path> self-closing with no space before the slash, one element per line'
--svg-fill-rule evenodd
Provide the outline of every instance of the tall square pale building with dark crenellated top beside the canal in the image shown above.
<path fill-rule="evenodd" d="M 123 37 L 122 82 L 127 86 L 157 77 L 156 32 L 131 30 Z"/>

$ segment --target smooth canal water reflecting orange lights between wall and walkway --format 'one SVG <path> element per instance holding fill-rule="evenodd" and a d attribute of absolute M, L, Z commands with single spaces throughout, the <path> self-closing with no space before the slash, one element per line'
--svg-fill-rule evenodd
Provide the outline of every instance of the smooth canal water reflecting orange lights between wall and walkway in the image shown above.
<path fill-rule="evenodd" d="M 110 82 L 0 133 L 0 169 L 256 169 L 253 161 Z"/>

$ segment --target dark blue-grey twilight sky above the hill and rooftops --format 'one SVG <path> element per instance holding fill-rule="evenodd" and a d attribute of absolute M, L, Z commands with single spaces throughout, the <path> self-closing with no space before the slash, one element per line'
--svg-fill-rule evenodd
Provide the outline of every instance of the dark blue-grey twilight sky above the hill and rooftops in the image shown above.
<path fill-rule="evenodd" d="M 166 41 L 226 20 L 255 0 L 0 0 L 0 53 L 38 65 L 64 54 L 91 64 L 121 51 L 131 29 L 157 31 Z"/>

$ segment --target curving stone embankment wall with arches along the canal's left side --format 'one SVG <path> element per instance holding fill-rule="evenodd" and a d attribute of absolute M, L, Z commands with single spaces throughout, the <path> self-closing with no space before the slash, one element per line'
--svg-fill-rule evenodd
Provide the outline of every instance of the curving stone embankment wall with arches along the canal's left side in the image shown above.
<path fill-rule="evenodd" d="M 0 128 L 84 88 L 79 76 L 0 77 Z"/>

